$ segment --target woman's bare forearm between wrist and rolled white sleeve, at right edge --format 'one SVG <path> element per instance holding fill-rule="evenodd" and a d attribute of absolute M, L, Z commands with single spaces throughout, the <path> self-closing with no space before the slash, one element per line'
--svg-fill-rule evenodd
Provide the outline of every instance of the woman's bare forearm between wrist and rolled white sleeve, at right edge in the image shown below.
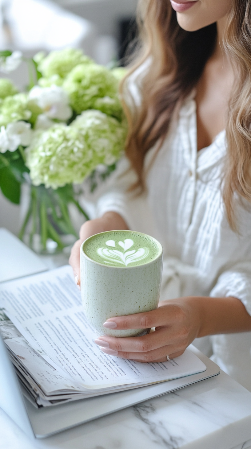
<path fill-rule="evenodd" d="M 214 334 L 231 334 L 251 330 L 251 316 L 239 299 L 194 297 L 201 327 L 198 337 Z"/>

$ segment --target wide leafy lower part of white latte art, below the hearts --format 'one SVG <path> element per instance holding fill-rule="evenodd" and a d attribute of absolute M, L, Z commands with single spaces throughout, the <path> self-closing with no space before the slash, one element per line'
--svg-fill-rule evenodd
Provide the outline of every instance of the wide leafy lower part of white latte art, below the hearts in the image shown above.
<path fill-rule="evenodd" d="M 129 240 L 129 239 L 128 239 Z M 106 264 L 121 264 L 127 267 L 127 265 L 132 264 L 134 262 L 139 262 L 140 260 L 145 259 L 148 254 L 148 248 L 139 248 L 138 251 L 126 251 L 124 254 L 122 251 L 118 250 L 110 250 L 108 248 L 99 248 L 98 254 L 105 259 L 104 262 Z"/>

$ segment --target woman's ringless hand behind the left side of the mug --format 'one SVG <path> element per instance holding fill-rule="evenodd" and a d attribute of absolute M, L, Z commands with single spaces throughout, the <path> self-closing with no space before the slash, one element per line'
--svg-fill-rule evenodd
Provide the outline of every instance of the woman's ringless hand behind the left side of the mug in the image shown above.
<path fill-rule="evenodd" d="M 69 264 L 73 268 L 75 282 L 80 286 L 80 247 L 88 237 L 105 231 L 115 229 L 128 229 L 123 218 L 116 212 L 107 212 L 101 218 L 86 221 L 80 229 L 79 240 L 74 243 L 69 258 Z"/>

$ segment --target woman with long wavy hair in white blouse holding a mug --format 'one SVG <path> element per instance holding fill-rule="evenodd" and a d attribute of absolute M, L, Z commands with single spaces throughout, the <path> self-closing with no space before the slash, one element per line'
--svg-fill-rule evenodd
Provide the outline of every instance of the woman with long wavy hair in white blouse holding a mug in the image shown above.
<path fill-rule="evenodd" d="M 133 187 L 147 189 L 164 284 L 173 270 L 181 297 L 164 286 L 158 309 L 104 323 L 155 332 L 96 343 L 117 357 L 166 361 L 213 335 L 214 360 L 251 389 L 251 1 L 146 0 L 139 22 L 141 57 L 123 88 L 126 155 Z M 110 199 L 103 212 L 73 248 L 77 283 L 81 242 L 128 229 L 123 204 Z"/>

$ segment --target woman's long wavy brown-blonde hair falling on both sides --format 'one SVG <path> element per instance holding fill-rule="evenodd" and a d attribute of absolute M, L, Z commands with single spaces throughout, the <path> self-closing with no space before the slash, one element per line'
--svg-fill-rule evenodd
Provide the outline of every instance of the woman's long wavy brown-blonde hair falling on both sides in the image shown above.
<path fill-rule="evenodd" d="M 214 23 L 184 31 L 169 0 L 141 0 L 138 27 L 138 50 L 121 93 L 129 122 L 126 154 L 138 175 L 133 188 L 144 189 L 145 155 L 157 142 L 161 146 L 173 115 L 198 83 L 215 48 L 217 30 Z M 222 183 L 226 215 L 236 230 L 235 193 L 251 202 L 251 0 L 232 0 L 224 46 L 238 74 L 225 127 L 228 145 Z M 128 77 L 147 61 L 140 79 L 140 106 L 131 97 L 128 107 Z"/>

